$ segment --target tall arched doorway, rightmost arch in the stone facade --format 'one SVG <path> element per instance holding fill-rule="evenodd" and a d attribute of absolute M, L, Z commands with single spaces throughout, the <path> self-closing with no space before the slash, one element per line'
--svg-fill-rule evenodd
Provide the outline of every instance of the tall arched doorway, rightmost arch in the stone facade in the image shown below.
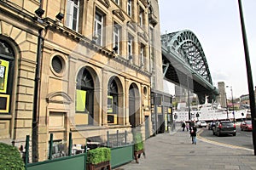
<path fill-rule="evenodd" d="M 140 97 L 137 85 L 132 83 L 129 88 L 129 122 L 131 127 L 140 124 Z"/>

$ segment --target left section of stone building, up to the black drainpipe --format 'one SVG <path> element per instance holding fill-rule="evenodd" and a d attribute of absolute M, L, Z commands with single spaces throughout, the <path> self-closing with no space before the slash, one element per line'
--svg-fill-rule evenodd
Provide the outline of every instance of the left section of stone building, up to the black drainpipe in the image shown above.
<path fill-rule="evenodd" d="M 19 147 L 32 137 L 38 86 L 38 1 L 0 1 L 0 140 Z"/>

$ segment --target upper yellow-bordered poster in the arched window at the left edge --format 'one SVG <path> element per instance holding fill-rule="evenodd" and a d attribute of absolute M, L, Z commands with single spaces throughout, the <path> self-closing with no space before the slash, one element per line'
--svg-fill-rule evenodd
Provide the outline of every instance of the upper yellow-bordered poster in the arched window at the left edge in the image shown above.
<path fill-rule="evenodd" d="M 0 59 L 0 93 L 6 93 L 8 81 L 9 61 Z"/>

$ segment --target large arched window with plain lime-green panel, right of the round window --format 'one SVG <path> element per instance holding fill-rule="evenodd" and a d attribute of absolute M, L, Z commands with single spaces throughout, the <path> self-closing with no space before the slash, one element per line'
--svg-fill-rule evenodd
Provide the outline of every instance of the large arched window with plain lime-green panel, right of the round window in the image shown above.
<path fill-rule="evenodd" d="M 76 125 L 93 125 L 94 82 L 90 71 L 79 71 L 76 87 Z"/>

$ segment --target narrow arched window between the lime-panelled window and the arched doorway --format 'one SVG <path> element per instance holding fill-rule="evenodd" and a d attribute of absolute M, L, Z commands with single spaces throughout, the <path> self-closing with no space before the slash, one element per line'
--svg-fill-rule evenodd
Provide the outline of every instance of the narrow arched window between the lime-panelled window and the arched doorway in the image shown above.
<path fill-rule="evenodd" d="M 108 124 L 118 124 L 118 86 L 114 78 L 108 82 Z"/>

